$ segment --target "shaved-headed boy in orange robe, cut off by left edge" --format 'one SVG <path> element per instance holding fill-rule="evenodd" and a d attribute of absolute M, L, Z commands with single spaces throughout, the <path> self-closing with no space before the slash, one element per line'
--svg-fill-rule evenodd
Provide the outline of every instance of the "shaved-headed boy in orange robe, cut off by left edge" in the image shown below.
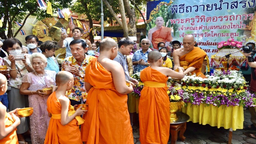
<path fill-rule="evenodd" d="M 0 95 L 3 95 L 7 90 L 6 77 L 0 74 Z M 1 144 L 18 144 L 16 127 L 20 124 L 20 118 L 14 113 L 17 109 L 6 112 L 6 107 L 0 102 L 0 143 Z"/>

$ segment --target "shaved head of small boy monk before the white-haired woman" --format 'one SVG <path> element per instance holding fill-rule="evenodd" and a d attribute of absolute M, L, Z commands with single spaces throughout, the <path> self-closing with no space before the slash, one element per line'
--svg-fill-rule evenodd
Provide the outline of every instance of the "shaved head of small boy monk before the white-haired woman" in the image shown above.
<path fill-rule="evenodd" d="M 56 74 L 55 81 L 58 85 L 66 84 L 74 79 L 73 74 L 68 71 L 60 71 Z"/>

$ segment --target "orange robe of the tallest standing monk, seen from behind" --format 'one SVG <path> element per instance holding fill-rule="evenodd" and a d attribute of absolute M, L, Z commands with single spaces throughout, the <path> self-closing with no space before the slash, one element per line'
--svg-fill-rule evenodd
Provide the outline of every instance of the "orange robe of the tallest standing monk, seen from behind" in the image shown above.
<path fill-rule="evenodd" d="M 86 67 L 84 81 L 93 87 L 86 100 L 89 109 L 83 116 L 82 140 L 87 144 L 133 144 L 127 94 L 116 91 L 112 74 L 97 58 Z"/>

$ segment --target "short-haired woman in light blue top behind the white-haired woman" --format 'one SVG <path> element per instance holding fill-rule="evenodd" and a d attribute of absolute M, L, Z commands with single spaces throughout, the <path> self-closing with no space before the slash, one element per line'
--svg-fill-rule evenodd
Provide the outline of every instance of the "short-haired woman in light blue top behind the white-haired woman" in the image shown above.
<path fill-rule="evenodd" d="M 45 70 L 52 70 L 58 73 L 60 71 L 58 62 L 53 60 L 53 55 L 55 51 L 60 47 L 56 41 L 46 41 L 40 45 L 40 49 L 42 50 L 42 54 L 45 55 L 47 59 L 47 66 Z"/>

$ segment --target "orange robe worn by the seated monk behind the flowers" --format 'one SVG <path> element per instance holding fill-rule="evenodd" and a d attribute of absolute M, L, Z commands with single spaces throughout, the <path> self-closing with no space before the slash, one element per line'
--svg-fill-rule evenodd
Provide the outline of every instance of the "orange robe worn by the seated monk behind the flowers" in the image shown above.
<path fill-rule="evenodd" d="M 204 50 L 199 47 L 194 47 L 193 50 L 180 57 L 180 67 L 183 67 L 185 70 L 189 67 L 196 68 L 190 73 L 196 73 L 196 76 L 201 75 L 200 77 L 205 78 L 205 75 L 200 70 L 205 57 L 206 53 Z"/>

